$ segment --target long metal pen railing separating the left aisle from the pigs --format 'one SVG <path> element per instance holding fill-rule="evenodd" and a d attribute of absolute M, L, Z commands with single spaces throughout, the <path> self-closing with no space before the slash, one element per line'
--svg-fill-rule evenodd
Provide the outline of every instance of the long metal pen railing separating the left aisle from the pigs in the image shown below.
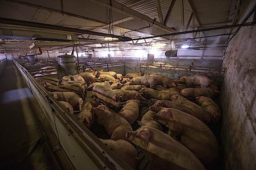
<path fill-rule="evenodd" d="M 104 145 L 89 129 L 40 85 L 22 65 L 13 60 L 22 78 L 39 103 L 60 146 L 75 169 L 131 170 L 120 157 Z M 83 159 L 81 159 L 83 158 Z"/>

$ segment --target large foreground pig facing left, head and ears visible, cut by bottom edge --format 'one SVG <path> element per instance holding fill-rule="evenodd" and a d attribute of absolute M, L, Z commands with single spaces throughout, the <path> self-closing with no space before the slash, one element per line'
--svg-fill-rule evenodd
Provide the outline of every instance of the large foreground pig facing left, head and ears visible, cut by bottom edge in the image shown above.
<path fill-rule="evenodd" d="M 206 170 L 190 150 L 156 128 L 146 125 L 126 137 L 149 157 L 150 170 Z"/>

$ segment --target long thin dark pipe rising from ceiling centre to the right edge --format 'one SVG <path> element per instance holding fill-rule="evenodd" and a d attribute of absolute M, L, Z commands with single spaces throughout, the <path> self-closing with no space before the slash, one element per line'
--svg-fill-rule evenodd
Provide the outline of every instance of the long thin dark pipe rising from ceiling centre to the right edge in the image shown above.
<path fill-rule="evenodd" d="M 180 35 L 180 34 L 197 33 L 197 32 L 202 32 L 202 31 L 211 31 L 211 30 L 227 29 L 227 28 L 234 28 L 234 27 L 243 27 L 243 26 L 254 25 L 255 23 L 256 22 L 235 24 L 235 25 L 224 25 L 224 26 L 220 26 L 220 27 L 205 28 L 205 29 L 190 30 L 190 31 L 182 31 L 182 32 L 177 32 L 177 33 L 161 34 L 161 35 L 148 36 L 148 37 L 143 37 L 143 38 L 134 38 L 132 40 L 144 40 L 144 39 L 149 39 L 149 38 L 158 38 L 158 37 L 162 37 L 162 36 L 172 36 L 172 35 Z"/>

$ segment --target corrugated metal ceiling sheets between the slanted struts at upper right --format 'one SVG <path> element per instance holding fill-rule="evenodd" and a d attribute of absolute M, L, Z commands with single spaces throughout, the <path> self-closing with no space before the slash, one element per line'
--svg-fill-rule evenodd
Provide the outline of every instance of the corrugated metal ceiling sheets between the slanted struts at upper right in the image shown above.
<path fill-rule="evenodd" d="M 156 18 L 159 21 L 156 9 L 155 0 L 116 0 L 117 2 L 134 9 L 135 11 Z M 201 25 L 208 25 L 214 23 L 225 23 L 228 21 L 231 0 L 190 0 L 198 20 Z M 184 3 L 184 20 L 185 26 L 189 20 L 191 10 L 186 0 Z M 171 0 L 160 0 L 163 18 L 165 18 Z M 181 26 L 181 12 L 180 0 L 176 0 L 173 11 L 167 22 L 167 26 L 180 29 Z M 191 26 L 190 26 L 191 27 Z"/>

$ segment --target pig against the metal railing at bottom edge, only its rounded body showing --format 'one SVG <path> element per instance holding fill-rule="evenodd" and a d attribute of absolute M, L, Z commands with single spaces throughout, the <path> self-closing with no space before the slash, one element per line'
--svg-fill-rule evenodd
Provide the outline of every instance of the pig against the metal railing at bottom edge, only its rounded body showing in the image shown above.
<path fill-rule="evenodd" d="M 139 158 L 137 157 L 137 150 L 132 144 L 122 139 L 100 139 L 100 141 L 121 157 L 132 169 L 136 170 Z"/>

